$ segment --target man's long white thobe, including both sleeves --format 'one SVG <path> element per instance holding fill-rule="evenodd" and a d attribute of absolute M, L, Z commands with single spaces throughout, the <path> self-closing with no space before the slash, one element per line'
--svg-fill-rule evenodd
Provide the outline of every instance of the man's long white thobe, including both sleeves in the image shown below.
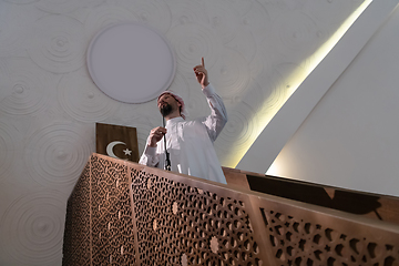
<path fill-rule="evenodd" d="M 211 84 L 203 89 L 203 93 L 211 108 L 208 116 L 192 121 L 178 116 L 166 122 L 164 137 L 171 171 L 226 184 L 213 142 L 227 122 L 227 112 Z M 164 140 L 161 140 L 156 147 L 145 146 L 139 163 L 164 168 L 165 160 Z"/>

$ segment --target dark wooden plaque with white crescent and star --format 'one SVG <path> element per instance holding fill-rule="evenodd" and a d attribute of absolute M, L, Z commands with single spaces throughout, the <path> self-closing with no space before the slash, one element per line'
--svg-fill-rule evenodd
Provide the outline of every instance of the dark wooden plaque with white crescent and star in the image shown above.
<path fill-rule="evenodd" d="M 96 153 L 115 158 L 139 162 L 139 143 L 135 127 L 95 124 Z"/>

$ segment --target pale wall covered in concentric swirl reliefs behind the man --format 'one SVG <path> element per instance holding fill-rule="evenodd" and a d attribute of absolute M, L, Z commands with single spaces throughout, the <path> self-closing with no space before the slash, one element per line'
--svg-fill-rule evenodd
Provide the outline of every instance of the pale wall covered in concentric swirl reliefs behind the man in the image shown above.
<path fill-rule="evenodd" d="M 95 122 L 135 126 L 140 152 L 162 124 L 154 101 L 120 103 L 93 84 L 85 54 L 99 30 L 139 21 L 161 31 L 177 61 L 171 89 L 192 117 L 208 114 L 192 72 L 204 57 L 229 115 L 216 152 L 235 166 L 293 92 L 287 76 L 361 2 L 0 1 L 0 265 L 60 265 L 66 198 L 94 152 Z"/>

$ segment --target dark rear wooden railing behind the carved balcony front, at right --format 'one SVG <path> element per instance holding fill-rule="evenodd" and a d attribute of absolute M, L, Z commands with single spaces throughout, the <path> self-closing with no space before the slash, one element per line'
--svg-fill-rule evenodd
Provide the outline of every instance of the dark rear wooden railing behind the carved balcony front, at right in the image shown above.
<path fill-rule="evenodd" d="M 227 183 L 399 225 L 399 197 L 223 167 Z"/>

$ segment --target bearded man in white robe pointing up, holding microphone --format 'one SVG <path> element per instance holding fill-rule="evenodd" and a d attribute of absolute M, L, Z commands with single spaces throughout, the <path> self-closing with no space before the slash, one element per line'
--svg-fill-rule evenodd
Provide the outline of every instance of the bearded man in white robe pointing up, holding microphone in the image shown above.
<path fill-rule="evenodd" d="M 157 106 L 166 120 L 166 125 L 151 131 L 139 163 L 165 168 L 165 136 L 171 171 L 226 184 L 213 142 L 227 122 L 227 112 L 222 99 L 208 82 L 204 59 L 202 64 L 194 68 L 194 73 L 207 99 L 211 114 L 186 121 L 183 99 L 171 91 L 163 92 L 158 96 Z"/>

